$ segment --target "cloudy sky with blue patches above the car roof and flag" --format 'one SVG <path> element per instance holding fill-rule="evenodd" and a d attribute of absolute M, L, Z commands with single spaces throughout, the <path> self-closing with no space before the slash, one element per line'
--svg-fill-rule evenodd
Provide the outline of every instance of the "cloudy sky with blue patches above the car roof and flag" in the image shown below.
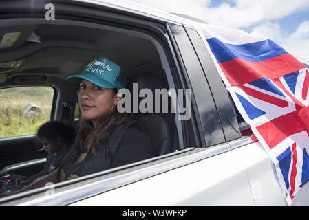
<path fill-rule="evenodd" d="M 209 23 L 264 34 L 309 61 L 309 0 L 131 0 Z"/>

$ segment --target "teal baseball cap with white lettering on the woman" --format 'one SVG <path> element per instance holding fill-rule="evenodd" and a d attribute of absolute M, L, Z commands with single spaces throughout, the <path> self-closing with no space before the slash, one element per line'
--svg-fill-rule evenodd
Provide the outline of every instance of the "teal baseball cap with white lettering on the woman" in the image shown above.
<path fill-rule="evenodd" d="M 81 79 L 107 89 L 116 88 L 119 90 L 127 85 L 127 79 L 120 66 L 105 57 L 96 58 L 88 63 L 81 74 L 67 77 L 69 82 L 78 82 Z"/>

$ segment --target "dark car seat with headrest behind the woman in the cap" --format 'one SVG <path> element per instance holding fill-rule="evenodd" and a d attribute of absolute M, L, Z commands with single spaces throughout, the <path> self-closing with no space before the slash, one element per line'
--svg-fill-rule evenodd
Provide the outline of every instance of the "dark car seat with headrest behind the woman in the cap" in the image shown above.
<path fill-rule="evenodd" d="M 131 92 L 131 100 L 133 99 L 133 83 L 138 83 L 138 94 L 140 93 L 140 90 L 144 88 L 151 89 L 153 94 L 153 113 L 140 113 L 139 111 L 139 113 L 134 113 L 134 118 L 142 124 L 145 132 L 150 135 L 151 145 L 153 146 L 155 156 L 175 151 L 175 146 L 173 146 L 174 135 L 176 133 L 174 119 L 175 113 L 154 113 L 154 91 L 155 89 L 163 89 L 162 84 L 156 76 L 149 73 L 127 77 L 127 89 Z M 144 97 L 139 97 L 138 103 L 140 103 L 142 99 L 144 99 Z M 133 104 L 131 104 L 131 110 L 133 109 L 132 105 Z"/>

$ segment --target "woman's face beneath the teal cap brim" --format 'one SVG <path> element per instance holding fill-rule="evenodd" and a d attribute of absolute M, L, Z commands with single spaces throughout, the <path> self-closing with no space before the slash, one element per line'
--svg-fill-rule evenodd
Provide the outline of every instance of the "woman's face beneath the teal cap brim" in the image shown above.
<path fill-rule="evenodd" d="M 99 87 L 88 80 L 81 80 L 78 86 L 78 102 L 81 115 L 85 120 L 91 120 L 96 126 L 101 118 L 111 113 L 116 105 L 114 89 Z"/>

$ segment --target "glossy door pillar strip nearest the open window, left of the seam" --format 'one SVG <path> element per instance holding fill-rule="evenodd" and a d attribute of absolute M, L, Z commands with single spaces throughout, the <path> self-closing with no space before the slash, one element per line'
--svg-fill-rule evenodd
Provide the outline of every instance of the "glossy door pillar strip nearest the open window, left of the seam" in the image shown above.
<path fill-rule="evenodd" d="M 204 137 L 204 140 L 202 140 L 203 146 L 222 144 L 225 142 L 225 137 L 215 108 L 213 94 L 211 94 L 209 83 L 189 36 L 182 25 L 169 24 L 169 29 L 175 39 L 175 47 L 178 47 L 179 50 L 178 56 L 182 61 L 182 71 L 185 72 L 188 84 L 191 85 L 192 100 L 195 100 L 193 109 L 198 114 L 198 128 L 200 132 L 203 132 L 201 135 Z M 211 115 L 211 120 L 209 120 L 209 115 Z M 215 132 L 213 132 L 214 129 Z"/>

